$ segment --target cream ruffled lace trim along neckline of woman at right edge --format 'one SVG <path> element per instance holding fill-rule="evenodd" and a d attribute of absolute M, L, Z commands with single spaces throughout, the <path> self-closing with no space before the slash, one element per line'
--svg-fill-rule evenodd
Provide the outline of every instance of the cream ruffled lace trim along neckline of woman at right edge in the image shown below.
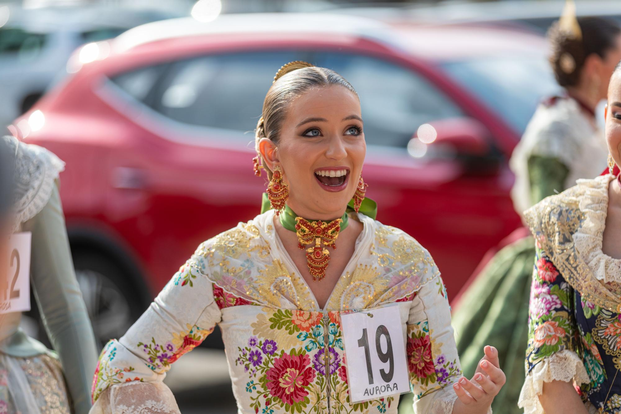
<path fill-rule="evenodd" d="M 597 280 L 604 283 L 621 283 L 621 260 L 602 251 L 608 213 L 608 185 L 614 178 L 604 175 L 594 180 L 578 180 L 578 186 L 584 189 L 578 206 L 585 217 L 582 226 L 574 233 L 574 246 Z"/>

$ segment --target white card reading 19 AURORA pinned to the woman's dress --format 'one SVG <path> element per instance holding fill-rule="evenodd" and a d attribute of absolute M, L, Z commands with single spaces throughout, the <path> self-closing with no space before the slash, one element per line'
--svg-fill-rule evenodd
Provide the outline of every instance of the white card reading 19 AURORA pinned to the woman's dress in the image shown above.
<path fill-rule="evenodd" d="M 341 315 L 341 321 L 350 401 L 409 392 L 399 306 L 347 313 Z"/>

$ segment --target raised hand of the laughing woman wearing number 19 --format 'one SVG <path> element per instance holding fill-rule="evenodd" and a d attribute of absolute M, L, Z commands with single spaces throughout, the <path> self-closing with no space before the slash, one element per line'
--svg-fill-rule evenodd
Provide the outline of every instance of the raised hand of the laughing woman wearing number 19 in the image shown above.
<path fill-rule="evenodd" d="M 498 351 L 492 346 L 483 349 L 484 356 L 479 361 L 471 380 L 461 377 L 453 389 L 459 397 L 453 407 L 453 414 L 485 414 L 492 405 L 494 397 L 504 385 L 506 377 L 500 369 Z"/>

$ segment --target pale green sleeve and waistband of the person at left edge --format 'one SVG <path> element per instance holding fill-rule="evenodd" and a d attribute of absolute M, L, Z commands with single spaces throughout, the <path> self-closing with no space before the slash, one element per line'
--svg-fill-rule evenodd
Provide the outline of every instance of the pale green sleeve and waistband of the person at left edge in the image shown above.
<path fill-rule="evenodd" d="M 32 232 L 31 288 L 53 348 L 60 357 L 75 412 L 88 413 L 97 350 L 91 321 L 71 261 L 58 188 L 42 211 L 24 223 Z M 0 343 L 0 352 L 25 357 L 49 353 L 17 330 Z"/>

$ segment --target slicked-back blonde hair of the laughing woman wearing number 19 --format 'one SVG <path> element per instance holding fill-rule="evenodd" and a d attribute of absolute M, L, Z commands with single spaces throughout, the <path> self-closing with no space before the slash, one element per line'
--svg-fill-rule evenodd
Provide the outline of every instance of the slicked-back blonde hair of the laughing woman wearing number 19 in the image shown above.
<path fill-rule="evenodd" d="M 255 130 L 256 154 L 261 160 L 261 164 L 268 173 L 270 180 L 272 172 L 267 167 L 265 160 L 263 160 L 259 150 L 259 140 L 266 137 L 278 145 L 280 129 L 289 103 L 311 88 L 335 85 L 343 86 L 358 96 L 356 90 L 343 76 L 330 69 L 316 67 L 311 65 L 311 63 L 296 60 L 283 65 L 278 70 L 268 93 L 265 95 L 263 111 Z"/>

